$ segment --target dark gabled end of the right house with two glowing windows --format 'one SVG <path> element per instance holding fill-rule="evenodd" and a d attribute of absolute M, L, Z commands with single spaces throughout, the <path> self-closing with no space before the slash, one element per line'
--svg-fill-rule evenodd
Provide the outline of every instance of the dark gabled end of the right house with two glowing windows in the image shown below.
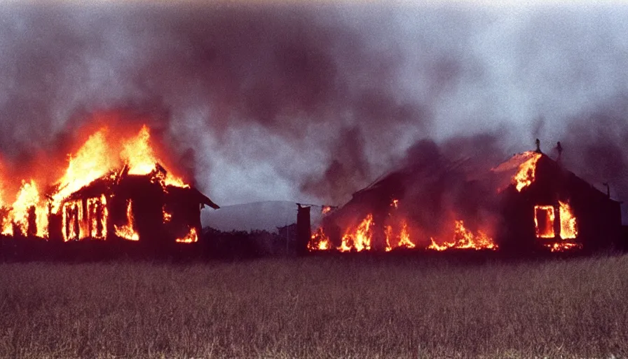
<path fill-rule="evenodd" d="M 560 145 L 559 145 L 560 148 Z M 516 169 L 500 191 L 502 243 L 514 250 L 539 246 L 552 251 L 598 250 L 618 245 L 622 236 L 620 202 L 566 170 L 539 149 L 513 156 L 494 169 Z"/>

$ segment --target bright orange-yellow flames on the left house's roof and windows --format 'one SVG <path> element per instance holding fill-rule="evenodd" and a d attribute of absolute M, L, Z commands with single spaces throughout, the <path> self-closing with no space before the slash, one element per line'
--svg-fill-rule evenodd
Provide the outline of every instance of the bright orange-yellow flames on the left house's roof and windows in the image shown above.
<path fill-rule="evenodd" d="M 116 179 L 122 173 L 123 165 L 130 175 L 150 174 L 165 192 L 168 186 L 190 187 L 181 177 L 176 177 L 163 168 L 163 163 L 158 161 L 158 147 L 151 146 L 151 134 L 147 126 L 142 126 L 135 136 L 127 136 L 123 131 L 113 132 L 114 130 L 118 129 L 100 128 L 81 147 L 68 154 L 67 167 L 54 182 L 53 192 L 47 196 L 41 194 L 41 188 L 34 179 L 23 180 L 15 194 L 15 202 L 7 205 L 4 178 L 0 175 L 0 233 L 5 236 L 19 234 L 49 238 L 50 215 L 59 215 L 62 222 L 60 234 L 64 241 L 107 238 L 108 229 L 109 232 L 112 230 L 108 227 L 111 225 L 107 208 L 108 195 L 99 194 L 97 197 L 81 200 L 69 198 L 97 179 Z M 2 173 L 4 171 L 0 171 Z M 42 177 L 48 175 L 46 173 Z M 126 217 L 125 225 L 113 228 L 115 233 L 131 241 L 139 240 L 130 202 Z M 171 220 L 172 213 L 166 212 L 164 208 L 163 222 Z M 196 230 L 185 238 L 193 237 L 196 238 Z"/>

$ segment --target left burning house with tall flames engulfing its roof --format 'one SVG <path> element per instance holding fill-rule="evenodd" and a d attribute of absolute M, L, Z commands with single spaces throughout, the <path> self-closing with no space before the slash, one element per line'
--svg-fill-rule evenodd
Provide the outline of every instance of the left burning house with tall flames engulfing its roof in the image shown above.
<path fill-rule="evenodd" d="M 146 126 L 126 139 L 97 131 L 45 194 L 31 179 L 22 181 L 13 205 L 0 203 L 2 235 L 154 247 L 198 241 L 201 208 L 219 206 L 166 170 L 149 140 Z"/>

